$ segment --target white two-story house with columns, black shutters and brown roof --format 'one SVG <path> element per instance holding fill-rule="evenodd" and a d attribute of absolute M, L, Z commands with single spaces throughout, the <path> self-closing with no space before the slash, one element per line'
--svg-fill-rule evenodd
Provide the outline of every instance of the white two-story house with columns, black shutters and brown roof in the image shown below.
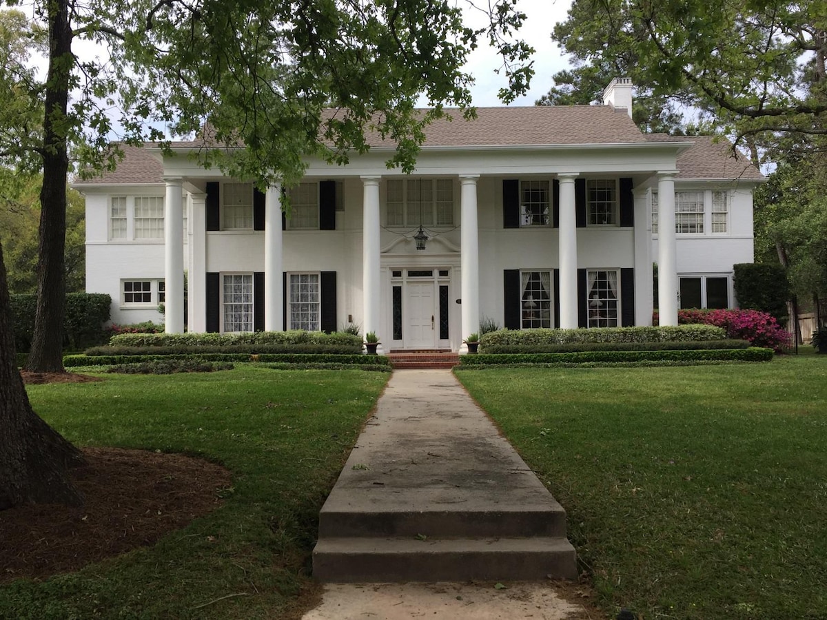
<path fill-rule="evenodd" d="M 460 350 L 480 317 L 611 327 L 731 307 L 762 175 L 725 142 L 641 133 L 631 104 L 617 79 L 600 106 L 479 108 L 428 127 L 414 174 L 387 169 L 394 145 L 370 136 L 349 165 L 310 160 L 299 185 L 264 193 L 199 167 L 198 143 L 127 147 L 115 172 L 75 184 L 87 290 L 112 295 L 117 323 L 353 323 L 385 351 Z"/>

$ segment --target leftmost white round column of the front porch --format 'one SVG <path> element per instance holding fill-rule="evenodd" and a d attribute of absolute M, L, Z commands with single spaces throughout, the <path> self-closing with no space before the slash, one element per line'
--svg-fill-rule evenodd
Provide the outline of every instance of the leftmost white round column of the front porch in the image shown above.
<path fill-rule="evenodd" d="M 184 333 L 184 211 L 181 179 L 165 179 L 164 279 L 165 328 L 168 334 Z"/>

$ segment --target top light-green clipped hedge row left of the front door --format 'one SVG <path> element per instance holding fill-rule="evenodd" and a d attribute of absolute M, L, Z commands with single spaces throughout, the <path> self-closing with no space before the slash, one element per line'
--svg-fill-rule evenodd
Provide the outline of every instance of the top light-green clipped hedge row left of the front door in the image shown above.
<path fill-rule="evenodd" d="M 351 350 L 361 338 L 334 331 L 253 331 L 241 334 L 117 334 L 109 341 L 112 346 L 237 346 L 237 345 L 322 345 Z"/>

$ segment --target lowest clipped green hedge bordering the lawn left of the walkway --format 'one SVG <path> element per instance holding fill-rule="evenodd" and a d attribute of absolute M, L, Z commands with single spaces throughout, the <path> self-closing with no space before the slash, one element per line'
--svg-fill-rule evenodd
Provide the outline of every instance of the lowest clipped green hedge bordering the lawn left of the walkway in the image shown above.
<path fill-rule="evenodd" d="M 190 355 L 65 355 L 65 368 L 89 365 L 142 364 L 145 362 L 188 360 L 198 362 L 283 362 L 287 364 L 390 365 L 385 355 L 313 355 L 305 353 L 201 353 Z"/>

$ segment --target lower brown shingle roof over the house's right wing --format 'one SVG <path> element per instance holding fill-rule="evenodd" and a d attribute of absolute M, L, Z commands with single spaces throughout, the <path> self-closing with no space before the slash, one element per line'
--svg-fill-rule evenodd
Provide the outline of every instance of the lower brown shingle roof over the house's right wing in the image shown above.
<path fill-rule="evenodd" d="M 726 138 L 647 134 L 650 142 L 695 142 L 677 156 L 677 179 L 763 179 L 753 163 Z"/>

